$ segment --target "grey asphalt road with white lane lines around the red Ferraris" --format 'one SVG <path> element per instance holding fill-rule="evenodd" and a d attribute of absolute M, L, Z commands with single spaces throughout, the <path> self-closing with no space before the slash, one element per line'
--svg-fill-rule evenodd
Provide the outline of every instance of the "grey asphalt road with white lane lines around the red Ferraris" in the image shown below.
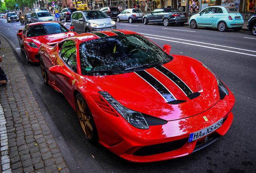
<path fill-rule="evenodd" d="M 66 27 L 70 22 L 64 23 Z M 106 173 L 253 173 L 256 172 L 256 37 L 249 31 L 219 32 L 213 28 L 192 30 L 189 26 L 142 23 L 117 23 L 118 29 L 138 32 L 163 47 L 171 45 L 171 54 L 195 58 L 211 68 L 235 95 L 233 123 L 226 135 L 215 143 L 186 157 L 155 163 L 130 163 L 101 145 L 89 143 L 80 128 L 75 111 L 62 94 L 43 83 L 39 64 L 27 64 L 19 49 L 16 33 L 19 22 L 0 20 L 0 34 L 6 36 L 31 78 L 52 119 L 63 135 L 73 159 L 83 172 Z M 211 82 L 211 81 L 209 81 Z M 70 156 L 71 157 L 71 156 Z M 73 162 L 73 163 L 72 163 Z M 72 167 L 74 172 L 76 167 Z M 77 169 L 78 170 L 78 169 Z M 80 170 L 80 169 L 79 169 Z"/>

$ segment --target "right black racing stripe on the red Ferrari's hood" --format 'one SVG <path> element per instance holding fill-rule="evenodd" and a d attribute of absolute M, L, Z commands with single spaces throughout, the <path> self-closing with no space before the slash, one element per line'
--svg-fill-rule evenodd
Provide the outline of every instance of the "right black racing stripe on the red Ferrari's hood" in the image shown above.
<path fill-rule="evenodd" d="M 175 76 L 175 74 L 173 74 L 171 71 L 167 70 L 163 66 L 157 66 L 155 68 L 157 70 L 161 71 L 163 74 L 165 74 L 165 76 L 167 76 L 169 79 L 171 79 L 175 84 L 177 84 L 182 89 L 182 91 L 184 91 L 184 93 L 186 95 L 190 95 L 193 93 L 188 88 L 188 86 L 182 80 L 180 80 L 177 76 Z"/>

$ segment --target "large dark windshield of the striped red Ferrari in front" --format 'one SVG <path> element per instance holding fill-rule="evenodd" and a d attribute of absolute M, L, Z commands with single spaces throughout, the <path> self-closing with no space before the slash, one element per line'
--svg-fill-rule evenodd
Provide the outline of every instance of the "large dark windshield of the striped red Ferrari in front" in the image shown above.
<path fill-rule="evenodd" d="M 83 42 L 79 45 L 79 55 L 83 75 L 119 74 L 146 69 L 150 65 L 164 64 L 171 60 L 161 48 L 139 34 Z"/>

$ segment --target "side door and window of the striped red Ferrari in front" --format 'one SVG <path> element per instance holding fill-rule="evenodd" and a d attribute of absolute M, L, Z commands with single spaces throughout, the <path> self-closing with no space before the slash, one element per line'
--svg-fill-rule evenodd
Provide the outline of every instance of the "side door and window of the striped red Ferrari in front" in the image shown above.
<path fill-rule="evenodd" d="M 64 97 L 66 97 L 67 100 L 70 100 L 73 97 L 72 89 L 77 75 L 75 42 L 73 40 L 64 41 L 60 51 L 58 52 L 58 56 L 60 59 L 62 59 L 62 61 L 56 61 L 56 65 L 62 66 L 64 71 L 72 76 L 72 78 L 61 76 L 59 74 L 51 74 L 51 76 Z"/>

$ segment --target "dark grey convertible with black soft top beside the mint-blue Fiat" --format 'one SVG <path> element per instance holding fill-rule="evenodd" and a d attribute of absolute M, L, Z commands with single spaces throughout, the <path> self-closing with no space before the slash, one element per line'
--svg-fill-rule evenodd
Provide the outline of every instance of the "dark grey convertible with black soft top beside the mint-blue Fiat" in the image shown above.
<path fill-rule="evenodd" d="M 181 12 L 175 8 L 158 8 L 150 14 L 143 16 L 142 22 L 144 24 L 159 23 L 164 26 L 169 26 L 170 24 L 183 25 L 188 22 L 188 18 L 185 12 Z"/>

